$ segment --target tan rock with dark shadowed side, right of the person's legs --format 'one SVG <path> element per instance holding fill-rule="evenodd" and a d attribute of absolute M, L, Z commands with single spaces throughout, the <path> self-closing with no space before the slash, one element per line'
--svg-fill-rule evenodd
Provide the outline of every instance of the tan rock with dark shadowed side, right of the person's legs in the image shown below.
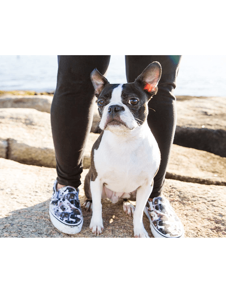
<path fill-rule="evenodd" d="M 226 157 L 226 97 L 177 96 L 174 143 Z"/>

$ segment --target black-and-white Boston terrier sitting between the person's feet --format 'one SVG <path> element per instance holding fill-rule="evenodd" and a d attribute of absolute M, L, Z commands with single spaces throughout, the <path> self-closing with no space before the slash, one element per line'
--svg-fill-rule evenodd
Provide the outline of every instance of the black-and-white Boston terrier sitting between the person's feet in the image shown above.
<path fill-rule="evenodd" d="M 157 93 L 162 68 L 155 61 L 133 83 L 110 84 L 94 69 L 90 75 L 102 130 L 92 147 L 91 166 L 85 177 L 86 210 L 92 209 L 89 228 L 103 232 L 101 198 L 123 199 L 133 213 L 134 237 L 149 237 L 143 212 L 158 172 L 160 151 L 147 123 L 148 102 Z M 136 207 L 128 202 L 136 201 Z"/>

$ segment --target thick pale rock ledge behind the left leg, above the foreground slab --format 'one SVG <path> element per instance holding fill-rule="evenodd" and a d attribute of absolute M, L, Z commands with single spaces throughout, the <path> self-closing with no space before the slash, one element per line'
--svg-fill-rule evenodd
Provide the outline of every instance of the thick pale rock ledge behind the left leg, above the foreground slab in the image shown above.
<path fill-rule="evenodd" d="M 50 114 L 35 109 L 0 109 L 0 155 L 23 164 L 56 167 Z M 84 168 L 90 166 L 90 151 L 98 134 L 90 133 L 85 147 Z"/>

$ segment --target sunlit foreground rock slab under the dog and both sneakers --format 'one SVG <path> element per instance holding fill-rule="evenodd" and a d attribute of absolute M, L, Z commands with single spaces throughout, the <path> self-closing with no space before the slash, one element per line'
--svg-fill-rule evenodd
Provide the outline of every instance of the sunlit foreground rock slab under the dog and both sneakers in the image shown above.
<path fill-rule="evenodd" d="M 84 201 L 82 173 L 79 187 Z M 82 231 L 75 235 L 59 232 L 48 214 L 53 168 L 20 164 L 0 158 L 0 237 L 95 237 L 89 230 L 91 213 L 82 207 Z M 180 217 L 185 237 L 226 237 L 226 192 L 224 186 L 200 185 L 175 180 L 165 181 L 165 195 Z M 145 229 L 152 237 L 149 221 L 143 216 Z M 103 200 L 104 231 L 98 237 L 133 237 L 132 217 L 123 212 L 122 204 Z"/>

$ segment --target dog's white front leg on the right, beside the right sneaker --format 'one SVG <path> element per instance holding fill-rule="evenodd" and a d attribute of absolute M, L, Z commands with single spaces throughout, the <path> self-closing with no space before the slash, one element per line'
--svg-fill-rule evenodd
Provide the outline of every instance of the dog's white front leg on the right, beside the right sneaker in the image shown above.
<path fill-rule="evenodd" d="M 143 224 L 144 207 L 153 189 L 153 184 L 143 185 L 137 189 L 136 208 L 134 210 L 134 237 L 149 237 Z"/>

